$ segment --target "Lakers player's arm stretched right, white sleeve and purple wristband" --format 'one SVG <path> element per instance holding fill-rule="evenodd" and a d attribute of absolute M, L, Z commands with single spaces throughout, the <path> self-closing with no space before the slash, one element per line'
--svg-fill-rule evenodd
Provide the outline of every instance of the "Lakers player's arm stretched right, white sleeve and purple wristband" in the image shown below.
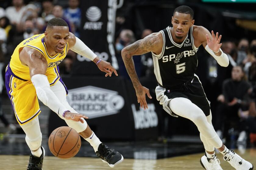
<path fill-rule="evenodd" d="M 98 68 L 106 73 L 105 77 L 111 77 L 113 72 L 116 76 L 118 76 L 116 69 L 112 67 L 109 62 L 101 60 L 89 47 L 84 44 L 84 42 L 77 38 L 73 33 L 69 32 L 69 35 L 69 49 L 96 63 Z"/>

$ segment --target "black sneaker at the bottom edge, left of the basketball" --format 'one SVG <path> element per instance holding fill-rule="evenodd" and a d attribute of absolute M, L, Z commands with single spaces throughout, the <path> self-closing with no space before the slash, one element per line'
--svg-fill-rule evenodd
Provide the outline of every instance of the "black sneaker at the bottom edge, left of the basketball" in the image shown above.
<path fill-rule="evenodd" d="M 43 153 L 39 158 L 32 155 L 32 153 L 30 152 L 30 158 L 29 158 L 27 170 L 42 170 L 45 151 L 42 146 L 41 146 L 41 149 Z"/>

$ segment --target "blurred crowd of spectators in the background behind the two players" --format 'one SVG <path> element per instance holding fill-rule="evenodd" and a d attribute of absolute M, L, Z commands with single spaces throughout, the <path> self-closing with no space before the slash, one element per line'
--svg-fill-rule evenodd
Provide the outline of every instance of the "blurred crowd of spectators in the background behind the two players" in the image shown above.
<path fill-rule="evenodd" d="M 80 36 L 81 9 L 79 8 L 79 0 L 61 2 L 43 0 L 24 4 L 23 0 L 12 0 L 11 6 L 5 9 L 0 7 L 0 70 L 2 71 L 0 92 L 4 88 L 4 68 L 9 63 L 15 47 L 23 39 L 43 33 L 50 19 L 54 17 L 64 19 L 69 25 L 70 32 L 73 32 L 77 37 Z M 135 35 L 135 30 L 126 29 L 122 26 L 124 22 L 124 17 L 117 16 L 115 47 L 119 75 L 129 78 L 121 57 L 121 50 L 137 39 L 148 36 L 152 30 L 140 30 L 140 35 L 136 31 Z M 239 41 L 225 41 L 221 48 L 229 57 L 230 64 L 228 67 L 218 66 L 208 53 L 204 52 L 203 56 L 198 55 L 199 63 L 200 57 L 207 57 L 205 63 L 207 65 L 207 80 L 210 82 L 210 87 L 215 89 L 214 95 L 216 97 L 211 99 L 214 100 L 212 107 L 215 107 L 212 109 L 215 130 L 223 141 L 230 139 L 246 142 L 250 138 L 251 143 L 254 143 L 256 141 L 256 39 L 249 41 L 244 38 Z M 76 54 L 69 50 L 67 57 L 60 65 L 63 68 L 62 74 L 71 72 L 75 59 Z M 151 53 L 134 56 L 133 60 L 138 77 L 148 83 L 148 88 L 154 95 L 157 82 L 152 79 L 154 67 Z M 201 77 L 201 79 L 204 78 Z M 208 95 L 212 94 L 207 93 Z M 1 108 L 0 118 L 6 127 L 11 130 L 15 129 L 2 116 Z M 161 121 L 161 119 L 159 120 Z M 159 125 L 161 126 L 161 122 Z"/>

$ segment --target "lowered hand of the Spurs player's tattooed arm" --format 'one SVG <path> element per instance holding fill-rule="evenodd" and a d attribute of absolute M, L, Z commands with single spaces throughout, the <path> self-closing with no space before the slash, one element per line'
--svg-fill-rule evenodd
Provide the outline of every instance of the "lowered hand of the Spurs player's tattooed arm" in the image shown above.
<path fill-rule="evenodd" d="M 135 90 L 136 90 L 136 96 L 138 99 L 138 103 L 140 103 L 140 107 L 144 108 L 144 110 L 145 110 L 146 108 L 148 108 L 148 104 L 146 101 L 146 94 L 147 94 L 148 98 L 152 99 L 151 95 L 149 94 L 149 90 L 148 90 L 148 88 L 143 87 L 141 85 L 139 87 L 137 87 Z"/>

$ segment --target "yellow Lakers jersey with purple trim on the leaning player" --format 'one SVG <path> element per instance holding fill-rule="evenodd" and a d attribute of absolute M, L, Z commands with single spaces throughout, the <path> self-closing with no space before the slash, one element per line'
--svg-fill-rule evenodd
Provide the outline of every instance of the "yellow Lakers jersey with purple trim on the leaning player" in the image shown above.
<path fill-rule="evenodd" d="M 28 39 L 22 41 L 14 50 L 12 54 L 12 58 L 9 64 L 10 69 L 12 70 L 13 74 L 19 77 L 22 80 L 30 80 L 30 73 L 29 67 L 20 61 L 20 50 L 23 47 L 29 47 L 36 49 L 39 51 L 47 61 L 48 68 L 46 71 L 46 76 L 48 77 L 48 81 L 50 86 L 54 85 L 59 79 L 59 70 L 58 65 L 62 62 L 62 60 L 67 55 L 68 50 L 68 43 L 66 44 L 65 48 L 61 53 L 57 53 L 55 56 L 50 56 L 46 45 L 44 42 L 44 34 L 34 35 Z"/>

